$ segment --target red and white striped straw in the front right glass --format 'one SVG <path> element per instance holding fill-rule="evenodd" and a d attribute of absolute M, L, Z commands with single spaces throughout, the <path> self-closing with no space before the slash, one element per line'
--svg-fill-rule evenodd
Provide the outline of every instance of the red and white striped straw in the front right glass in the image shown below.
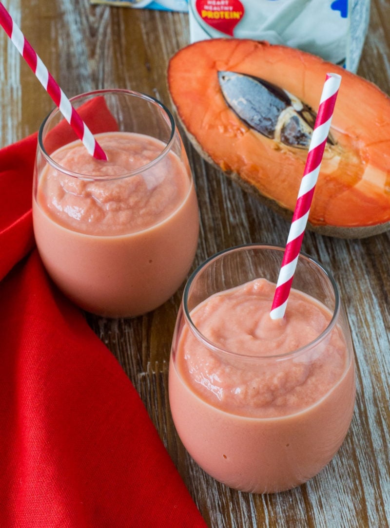
<path fill-rule="evenodd" d="M 310 206 L 317 183 L 322 156 L 327 143 L 330 123 L 335 109 L 336 98 L 341 82 L 337 73 L 327 73 L 323 86 L 320 106 L 315 119 L 301 185 L 292 217 L 289 236 L 283 255 L 282 266 L 277 279 L 275 295 L 271 307 L 272 319 L 281 319 L 287 306 L 296 263 L 302 246 L 302 239 L 309 218 Z"/>

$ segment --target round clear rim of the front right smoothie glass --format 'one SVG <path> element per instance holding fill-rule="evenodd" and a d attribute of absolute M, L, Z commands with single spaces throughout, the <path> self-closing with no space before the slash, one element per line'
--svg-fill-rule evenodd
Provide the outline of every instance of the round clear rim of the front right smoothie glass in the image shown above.
<path fill-rule="evenodd" d="M 188 297 L 190 294 L 190 289 L 193 283 L 193 280 L 196 278 L 196 276 L 199 274 L 199 272 L 208 266 L 212 261 L 215 261 L 219 259 L 220 257 L 224 256 L 228 253 L 234 253 L 237 251 L 242 251 L 246 249 L 265 249 L 265 250 L 277 250 L 281 253 L 284 252 L 285 248 L 282 246 L 278 246 L 277 244 L 261 244 L 261 243 L 249 243 L 249 244 L 241 244 L 239 246 L 234 246 L 228 249 L 224 249 L 222 251 L 219 251 L 215 254 L 213 254 L 211 257 L 207 258 L 205 261 L 203 261 L 190 275 L 189 279 L 187 280 L 187 283 L 184 286 L 183 291 L 183 297 L 182 297 L 182 308 L 184 313 L 184 318 L 187 321 L 187 324 L 191 330 L 191 332 L 194 334 L 194 336 L 202 342 L 207 348 L 212 350 L 213 352 L 219 353 L 221 355 L 228 355 L 230 357 L 234 357 L 236 359 L 242 359 L 242 360 L 251 360 L 251 361 L 270 361 L 270 360 L 286 360 L 294 356 L 298 356 L 302 354 L 303 352 L 309 350 L 313 346 L 317 345 L 321 341 L 324 340 L 324 338 L 330 334 L 332 329 L 336 326 L 337 319 L 339 317 L 340 313 L 340 293 L 339 288 L 336 284 L 335 279 L 333 279 L 331 273 L 324 268 L 317 259 L 310 257 L 307 253 L 304 253 L 301 251 L 299 253 L 299 258 L 302 258 L 304 260 L 307 260 L 311 263 L 313 263 L 316 267 L 318 267 L 324 276 L 329 280 L 332 289 L 333 294 L 335 295 L 335 307 L 333 309 L 332 317 L 327 325 L 326 328 L 319 334 L 313 341 L 310 341 L 309 343 L 296 348 L 295 350 L 285 352 L 284 354 L 271 354 L 271 355 L 248 355 L 248 354 L 240 354 L 237 352 L 232 352 L 231 350 L 227 350 L 226 348 L 222 348 L 221 346 L 216 345 L 212 341 L 210 341 L 205 335 L 203 335 L 197 328 L 197 326 L 193 323 L 191 319 L 191 315 L 188 309 Z M 243 283 L 244 284 L 244 283 Z M 317 300 L 317 299 L 316 299 Z M 203 301 L 202 301 L 203 302 Z M 201 303 L 199 303 L 201 304 Z M 270 307 L 271 308 L 271 307 Z"/>

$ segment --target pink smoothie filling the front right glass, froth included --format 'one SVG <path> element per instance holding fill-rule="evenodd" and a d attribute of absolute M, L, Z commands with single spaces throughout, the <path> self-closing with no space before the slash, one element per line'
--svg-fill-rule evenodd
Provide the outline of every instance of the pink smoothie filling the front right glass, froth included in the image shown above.
<path fill-rule="evenodd" d="M 341 328 L 318 301 L 292 290 L 284 319 L 269 316 L 265 279 L 216 294 L 173 343 L 169 394 L 185 448 L 207 473 L 242 491 L 274 493 L 316 475 L 346 436 L 354 363 Z M 226 352 L 229 351 L 229 352 Z M 244 357 L 245 356 L 245 357 Z"/>

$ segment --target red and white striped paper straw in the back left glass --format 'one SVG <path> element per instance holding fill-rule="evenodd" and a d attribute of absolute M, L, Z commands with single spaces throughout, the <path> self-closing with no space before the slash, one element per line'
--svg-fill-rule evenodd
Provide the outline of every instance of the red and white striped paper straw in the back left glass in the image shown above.
<path fill-rule="evenodd" d="M 97 159 L 106 160 L 107 156 L 104 150 L 97 143 L 95 137 L 77 111 L 72 107 L 71 102 L 58 86 L 57 82 L 54 81 L 48 69 L 35 53 L 20 28 L 15 24 L 12 16 L 8 13 L 2 2 L 0 2 L 0 24 L 16 46 L 17 51 L 35 73 L 43 88 L 49 93 L 55 105 L 58 106 L 61 114 L 75 131 L 77 137 L 81 139 L 89 154 Z"/>

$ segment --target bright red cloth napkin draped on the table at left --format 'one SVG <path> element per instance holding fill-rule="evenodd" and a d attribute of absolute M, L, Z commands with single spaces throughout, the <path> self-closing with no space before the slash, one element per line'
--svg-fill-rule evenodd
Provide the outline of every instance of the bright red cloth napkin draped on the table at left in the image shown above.
<path fill-rule="evenodd" d="M 34 247 L 36 135 L 0 150 L 0 526 L 206 526 L 133 385 Z"/>

